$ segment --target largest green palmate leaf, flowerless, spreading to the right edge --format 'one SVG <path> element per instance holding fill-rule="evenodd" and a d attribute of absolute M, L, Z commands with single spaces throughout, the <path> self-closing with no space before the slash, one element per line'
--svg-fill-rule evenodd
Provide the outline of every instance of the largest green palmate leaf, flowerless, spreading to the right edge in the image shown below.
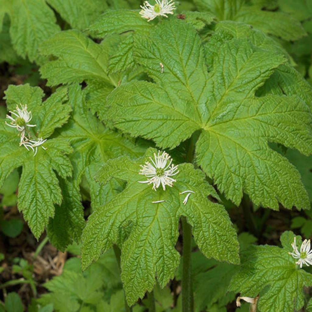
<path fill-rule="evenodd" d="M 200 38 L 183 21 L 163 21 L 135 42 L 137 61 L 156 83 L 117 87 L 107 98 L 107 121 L 162 148 L 200 129 L 196 161 L 227 198 L 239 204 L 245 192 L 273 209 L 278 202 L 310 207 L 298 171 L 268 146 L 277 142 L 310 154 L 309 107 L 297 96 L 255 97 L 286 61 L 280 49 L 274 53 L 247 39 L 211 41 L 218 53 L 208 74 Z"/>

